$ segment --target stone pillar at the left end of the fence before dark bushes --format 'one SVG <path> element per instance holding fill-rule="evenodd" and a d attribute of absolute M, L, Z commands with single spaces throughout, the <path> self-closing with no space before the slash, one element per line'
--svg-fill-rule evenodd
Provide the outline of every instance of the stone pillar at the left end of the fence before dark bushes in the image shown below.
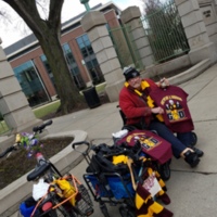
<path fill-rule="evenodd" d="M 132 36 L 132 41 L 137 47 L 140 55 L 140 62 L 144 68 L 146 66 L 153 65 L 154 56 L 140 17 L 141 12 L 138 7 L 129 7 L 123 11 L 120 15 L 123 24 L 125 24 L 130 29 L 129 35 Z"/>

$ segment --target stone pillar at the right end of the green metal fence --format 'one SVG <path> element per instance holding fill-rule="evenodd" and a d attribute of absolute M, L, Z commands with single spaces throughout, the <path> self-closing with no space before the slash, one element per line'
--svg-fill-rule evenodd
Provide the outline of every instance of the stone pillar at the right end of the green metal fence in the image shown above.
<path fill-rule="evenodd" d="M 189 56 L 192 64 L 209 59 L 217 60 L 215 46 L 210 42 L 197 0 L 175 0 L 188 38 L 191 51 Z"/>

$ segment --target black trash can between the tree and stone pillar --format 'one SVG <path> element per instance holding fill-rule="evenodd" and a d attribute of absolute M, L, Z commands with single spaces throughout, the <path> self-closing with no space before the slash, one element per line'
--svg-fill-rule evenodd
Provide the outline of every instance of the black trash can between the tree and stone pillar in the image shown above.
<path fill-rule="evenodd" d="M 97 107 L 101 105 L 100 98 L 97 93 L 95 87 L 88 88 L 82 91 L 85 95 L 86 102 L 90 108 Z"/>

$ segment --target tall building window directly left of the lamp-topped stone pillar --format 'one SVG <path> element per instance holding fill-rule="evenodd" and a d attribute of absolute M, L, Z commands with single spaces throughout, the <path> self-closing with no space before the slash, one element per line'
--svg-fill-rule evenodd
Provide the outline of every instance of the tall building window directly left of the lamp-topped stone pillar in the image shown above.
<path fill-rule="evenodd" d="M 103 82 L 104 77 L 100 69 L 100 65 L 99 65 L 95 54 L 92 50 L 92 47 L 91 47 L 91 43 L 90 43 L 90 40 L 89 40 L 87 34 L 76 38 L 76 41 L 77 41 L 80 52 L 82 54 L 85 64 L 90 73 L 93 85 Z"/>

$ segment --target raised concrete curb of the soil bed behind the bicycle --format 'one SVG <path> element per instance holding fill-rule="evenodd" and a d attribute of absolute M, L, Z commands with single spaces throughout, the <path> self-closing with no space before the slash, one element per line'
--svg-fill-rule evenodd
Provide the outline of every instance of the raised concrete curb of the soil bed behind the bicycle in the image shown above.
<path fill-rule="evenodd" d="M 48 135 L 41 140 L 49 138 L 74 138 L 73 142 L 82 141 L 88 139 L 88 135 L 81 130 L 66 131 L 55 135 Z M 72 142 L 72 143 L 73 143 Z M 65 149 L 59 152 L 56 155 L 50 158 L 50 161 L 56 166 L 56 168 L 62 173 L 66 174 L 72 168 L 74 168 L 79 162 L 82 161 L 82 155 L 78 152 L 74 152 L 72 143 Z M 79 151 L 84 151 L 84 146 L 80 146 Z M 28 173 L 29 174 L 29 173 Z M 18 178 L 16 181 L 12 182 L 4 189 L 0 190 L 0 216 L 9 217 L 18 210 L 21 202 L 31 194 L 33 182 L 26 180 L 26 175 Z M 12 205 L 13 204 L 13 205 Z"/>

